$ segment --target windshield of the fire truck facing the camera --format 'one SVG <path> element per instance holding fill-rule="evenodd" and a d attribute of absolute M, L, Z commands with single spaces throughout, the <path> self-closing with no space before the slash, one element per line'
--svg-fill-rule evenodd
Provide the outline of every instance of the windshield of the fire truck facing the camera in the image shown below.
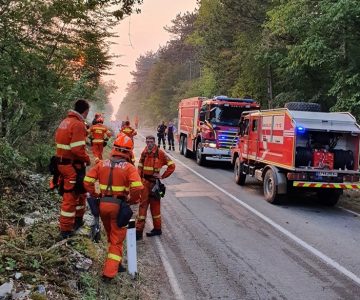
<path fill-rule="evenodd" d="M 241 113 L 248 110 L 239 106 L 214 105 L 210 108 L 210 123 L 216 125 L 238 126 Z"/>

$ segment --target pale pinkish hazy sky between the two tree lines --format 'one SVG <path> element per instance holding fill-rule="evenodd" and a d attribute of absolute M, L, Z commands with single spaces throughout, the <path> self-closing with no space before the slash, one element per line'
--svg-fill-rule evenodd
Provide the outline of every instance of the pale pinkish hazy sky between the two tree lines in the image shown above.
<path fill-rule="evenodd" d="M 196 0 L 144 0 L 141 13 L 126 18 L 116 28 L 119 37 L 114 40 L 117 44 L 112 46 L 111 53 L 122 55 L 115 59 L 115 64 L 126 67 L 114 67 L 110 72 L 115 75 L 105 78 L 115 80 L 118 87 L 116 94 L 111 96 L 114 114 L 126 95 L 127 83 L 132 80 L 130 72 L 135 70 L 136 59 L 146 51 L 156 51 L 159 46 L 164 46 L 170 35 L 163 27 L 171 25 L 178 13 L 192 12 L 196 7 Z"/>

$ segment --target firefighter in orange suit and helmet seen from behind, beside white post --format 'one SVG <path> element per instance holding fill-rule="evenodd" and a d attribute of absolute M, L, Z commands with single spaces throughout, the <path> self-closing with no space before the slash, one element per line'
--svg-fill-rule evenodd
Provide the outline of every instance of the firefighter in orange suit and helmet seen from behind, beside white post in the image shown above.
<path fill-rule="evenodd" d="M 122 261 L 122 246 L 126 237 L 126 227 L 118 227 L 116 218 L 120 201 L 129 204 L 140 201 L 143 184 L 137 169 L 131 164 L 132 140 L 126 136 L 119 136 L 111 151 L 111 158 L 100 161 L 84 179 L 86 190 L 94 197 L 100 197 L 100 217 L 104 224 L 109 248 L 103 278 L 110 280 L 116 276 Z M 99 181 L 100 195 L 95 192 L 95 182 Z"/>

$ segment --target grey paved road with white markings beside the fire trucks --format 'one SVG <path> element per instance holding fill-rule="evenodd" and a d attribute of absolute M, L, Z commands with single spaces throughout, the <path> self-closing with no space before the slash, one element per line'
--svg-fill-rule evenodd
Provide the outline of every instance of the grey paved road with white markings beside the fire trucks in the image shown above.
<path fill-rule="evenodd" d="M 140 137 L 136 145 L 138 154 Z M 164 181 L 164 233 L 145 242 L 174 299 L 360 299 L 358 217 L 308 196 L 268 204 L 261 185 L 237 186 L 231 168 L 169 153 L 177 168 Z"/>

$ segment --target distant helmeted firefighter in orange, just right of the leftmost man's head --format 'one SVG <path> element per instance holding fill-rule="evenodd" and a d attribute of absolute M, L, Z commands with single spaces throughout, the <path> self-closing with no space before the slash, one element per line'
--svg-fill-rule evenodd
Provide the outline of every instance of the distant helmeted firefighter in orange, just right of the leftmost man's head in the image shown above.
<path fill-rule="evenodd" d="M 111 137 L 110 130 L 103 123 L 103 117 L 98 117 L 95 124 L 89 129 L 91 150 L 95 157 L 95 163 L 102 160 L 104 145 L 106 145 L 107 140 Z"/>

